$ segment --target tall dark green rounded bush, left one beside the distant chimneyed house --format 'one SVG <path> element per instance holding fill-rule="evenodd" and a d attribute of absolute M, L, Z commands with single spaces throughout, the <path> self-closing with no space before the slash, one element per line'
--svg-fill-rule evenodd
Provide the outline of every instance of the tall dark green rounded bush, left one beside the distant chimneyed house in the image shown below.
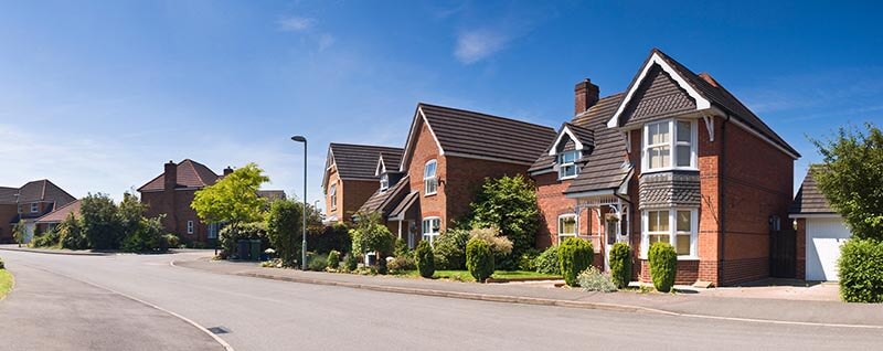
<path fill-rule="evenodd" d="M 124 233 L 118 209 L 107 194 L 88 194 L 79 209 L 83 233 L 88 245 L 97 249 L 119 248 Z"/>

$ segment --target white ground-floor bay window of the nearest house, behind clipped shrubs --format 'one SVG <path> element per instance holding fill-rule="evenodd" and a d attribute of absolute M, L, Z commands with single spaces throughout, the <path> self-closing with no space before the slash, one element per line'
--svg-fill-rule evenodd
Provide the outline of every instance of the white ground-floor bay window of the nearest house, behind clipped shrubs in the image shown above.
<path fill-rule="evenodd" d="M 695 209 L 666 209 L 643 211 L 641 214 L 641 254 L 647 258 L 650 245 L 668 243 L 679 258 L 696 257 L 699 211 Z"/>

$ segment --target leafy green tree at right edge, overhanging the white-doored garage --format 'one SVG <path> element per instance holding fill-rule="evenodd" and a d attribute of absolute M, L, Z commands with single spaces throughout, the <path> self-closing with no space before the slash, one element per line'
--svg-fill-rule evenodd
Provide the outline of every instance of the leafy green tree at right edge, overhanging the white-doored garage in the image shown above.
<path fill-rule="evenodd" d="M 812 140 L 823 157 L 811 168 L 812 178 L 843 216 L 855 238 L 883 241 L 883 132 L 873 124 L 866 131 L 841 127 L 828 140 Z"/>

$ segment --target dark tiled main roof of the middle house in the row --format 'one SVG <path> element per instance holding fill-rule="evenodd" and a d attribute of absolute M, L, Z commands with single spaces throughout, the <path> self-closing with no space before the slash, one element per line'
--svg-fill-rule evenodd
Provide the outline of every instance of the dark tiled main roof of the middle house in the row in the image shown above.
<path fill-rule="evenodd" d="M 555 139 L 555 130 L 476 111 L 419 104 L 446 153 L 532 163 Z"/>

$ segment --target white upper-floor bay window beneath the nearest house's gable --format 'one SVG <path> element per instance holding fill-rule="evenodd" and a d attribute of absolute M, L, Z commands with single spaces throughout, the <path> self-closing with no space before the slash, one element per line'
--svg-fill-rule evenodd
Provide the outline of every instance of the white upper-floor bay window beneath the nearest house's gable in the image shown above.
<path fill-rule="evenodd" d="M 663 120 L 643 127 L 645 171 L 695 169 L 695 124 Z"/>

